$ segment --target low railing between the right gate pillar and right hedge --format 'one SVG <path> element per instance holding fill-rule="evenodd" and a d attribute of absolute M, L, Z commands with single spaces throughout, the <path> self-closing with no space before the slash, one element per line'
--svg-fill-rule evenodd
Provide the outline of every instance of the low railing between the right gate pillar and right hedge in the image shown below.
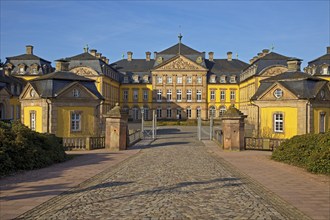
<path fill-rule="evenodd" d="M 245 137 L 245 150 L 274 151 L 285 139 Z"/>

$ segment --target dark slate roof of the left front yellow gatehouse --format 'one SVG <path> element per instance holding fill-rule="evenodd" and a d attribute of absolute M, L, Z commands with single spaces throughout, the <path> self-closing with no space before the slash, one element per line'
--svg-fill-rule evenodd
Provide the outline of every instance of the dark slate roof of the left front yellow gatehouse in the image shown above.
<path fill-rule="evenodd" d="M 95 81 L 67 71 L 57 71 L 29 81 L 42 98 L 56 98 L 64 88 L 72 83 L 79 83 L 99 99 L 104 99 L 98 92 Z"/>

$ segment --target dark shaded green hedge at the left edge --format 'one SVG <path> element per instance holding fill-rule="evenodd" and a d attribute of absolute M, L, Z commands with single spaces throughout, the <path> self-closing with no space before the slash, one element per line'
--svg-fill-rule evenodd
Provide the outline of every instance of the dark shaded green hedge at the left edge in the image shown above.
<path fill-rule="evenodd" d="M 32 131 L 20 122 L 0 122 L 0 176 L 65 161 L 62 140 Z"/>

